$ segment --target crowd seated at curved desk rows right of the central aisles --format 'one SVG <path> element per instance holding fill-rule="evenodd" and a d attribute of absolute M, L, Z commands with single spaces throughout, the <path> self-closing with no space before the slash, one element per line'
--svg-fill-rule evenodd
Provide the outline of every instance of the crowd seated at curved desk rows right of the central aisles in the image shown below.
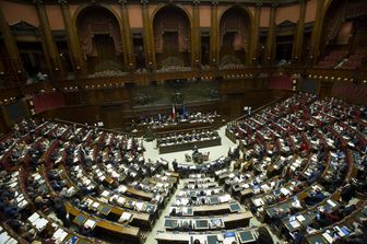
<path fill-rule="evenodd" d="M 218 177 L 275 230 L 291 223 L 287 229 L 297 230 L 287 236 L 295 241 L 295 233 L 300 233 L 300 243 L 311 229 L 353 216 L 356 206 L 350 200 L 365 196 L 366 118 L 366 107 L 296 94 L 227 125 L 227 135 L 240 141 L 242 169 L 221 171 Z M 362 199 L 357 202 L 364 206 Z M 318 214 L 309 223 L 288 221 L 299 212 Z"/>

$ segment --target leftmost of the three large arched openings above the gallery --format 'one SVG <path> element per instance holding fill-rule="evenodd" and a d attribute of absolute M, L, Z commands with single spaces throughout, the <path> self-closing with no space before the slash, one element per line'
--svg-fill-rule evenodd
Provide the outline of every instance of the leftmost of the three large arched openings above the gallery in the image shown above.
<path fill-rule="evenodd" d="M 120 26 L 114 13 L 88 7 L 79 14 L 76 30 L 90 74 L 123 70 Z"/>

